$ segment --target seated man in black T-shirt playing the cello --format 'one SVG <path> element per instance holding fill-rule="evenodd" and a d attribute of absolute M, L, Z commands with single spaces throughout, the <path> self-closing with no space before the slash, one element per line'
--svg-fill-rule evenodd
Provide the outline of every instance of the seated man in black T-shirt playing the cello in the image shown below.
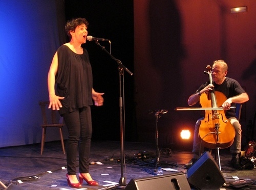
<path fill-rule="evenodd" d="M 226 77 L 228 66 L 223 60 L 217 60 L 212 65 L 212 80 L 213 83 L 209 81 L 201 85 L 201 87 L 196 91 L 196 93 L 189 96 L 187 103 L 188 105 L 196 104 L 201 94 L 211 92 L 212 90 L 219 91 L 226 96 L 226 100 L 222 103 L 222 107 L 225 110 L 225 116 L 230 121 L 231 125 L 234 127 L 236 134 L 234 141 L 230 146 L 230 153 L 232 153 L 231 164 L 233 168 L 239 169 L 240 166 L 240 155 L 241 155 L 241 138 L 242 129 L 238 118 L 236 117 L 236 111 L 234 108 L 235 103 L 244 103 L 249 100 L 247 93 L 241 87 L 241 85 L 232 78 Z M 196 122 L 195 132 L 194 132 L 194 142 L 193 142 L 193 158 L 185 164 L 185 168 L 191 167 L 195 161 L 200 157 L 200 153 L 204 147 L 200 147 L 201 139 L 199 138 L 199 127 L 201 124 L 201 119 Z"/>

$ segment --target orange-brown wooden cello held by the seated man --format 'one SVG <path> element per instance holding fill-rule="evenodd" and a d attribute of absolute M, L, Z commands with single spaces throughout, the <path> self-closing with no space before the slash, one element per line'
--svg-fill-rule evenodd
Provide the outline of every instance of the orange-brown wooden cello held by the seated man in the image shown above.
<path fill-rule="evenodd" d="M 208 65 L 206 68 L 208 71 L 204 72 L 208 73 L 209 81 L 213 84 L 211 67 Z M 204 110 L 205 117 L 199 126 L 199 136 L 206 148 L 228 148 L 234 141 L 236 135 L 234 127 L 226 118 L 225 110 L 219 109 L 226 99 L 222 92 L 215 91 L 214 88 L 200 96 L 201 106 L 209 107 L 209 110 Z"/>

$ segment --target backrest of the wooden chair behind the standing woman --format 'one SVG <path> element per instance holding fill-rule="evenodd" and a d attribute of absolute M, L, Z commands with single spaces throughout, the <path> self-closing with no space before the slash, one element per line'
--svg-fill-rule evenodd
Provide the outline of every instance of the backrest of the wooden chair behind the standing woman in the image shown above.
<path fill-rule="evenodd" d="M 57 121 L 57 117 L 56 117 L 57 111 L 48 108 L 49 101 L 39 101 L 39 105 L 41 108 L 43 124 L 62 124 L 63 123 L 62 117 L 59 117 L 59 121 Z M 51 119 L 47 119 L 50 117 Z"/>

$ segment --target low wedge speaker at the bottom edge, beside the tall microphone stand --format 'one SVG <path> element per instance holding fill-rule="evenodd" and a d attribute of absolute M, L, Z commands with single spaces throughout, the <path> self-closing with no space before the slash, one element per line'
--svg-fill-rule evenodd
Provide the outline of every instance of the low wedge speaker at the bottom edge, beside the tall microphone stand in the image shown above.
<path fill-rule="evenodd" d="M 191 189 L 183 172 L 169 175 L 132 179 L 125 190 Z"/>

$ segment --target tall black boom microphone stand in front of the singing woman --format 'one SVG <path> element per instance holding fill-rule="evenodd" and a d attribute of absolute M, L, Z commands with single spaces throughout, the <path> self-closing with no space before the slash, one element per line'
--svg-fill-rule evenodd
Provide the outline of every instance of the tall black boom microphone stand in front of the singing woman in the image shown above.
<path fill-rule="evenodd" d="M 130 75 L 133 75 L 133 73 L 127 69 L 120 60 L 116 59 L 114 56 L 111 55 L 109 51 L 107 51 L 103 46 L 101 46 L 98 42 L 98 40 L 95 41 L 95 43 L 101 47 L 108 55 L 115 60 L 118 63 L 118 71 L 119 71 L 119 110 L 120 110 L 120 154 L 121 154 L 121 178 L 119 179 L 119 184 L 118 185 L 113 185 L 110 187 L 106 187 L 105 189 L 111 189 L 117 186 L 120 186 L 120 188 L 125 188 L 126 186 L 126 181 L 125 178 L 123 177 L 123 162 L 124 162 L 124 142 L 123 142 L 123 102 L 122 102 L 122 83 L 121 83 L 121 75 L 123 75 L 123 70 L 128 72 Z"/>

